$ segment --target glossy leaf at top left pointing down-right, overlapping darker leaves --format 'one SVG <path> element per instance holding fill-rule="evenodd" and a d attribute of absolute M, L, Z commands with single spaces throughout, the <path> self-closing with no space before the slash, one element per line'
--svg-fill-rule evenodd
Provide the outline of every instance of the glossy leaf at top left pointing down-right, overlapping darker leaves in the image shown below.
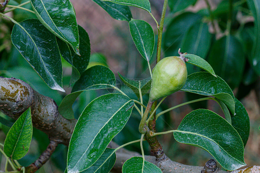
<path fill-rule="evenodd" d="M 41 23 L 53 34 L 79 52 L 79 32 L 76 14 L 70 0 L 30 0 Z"/>

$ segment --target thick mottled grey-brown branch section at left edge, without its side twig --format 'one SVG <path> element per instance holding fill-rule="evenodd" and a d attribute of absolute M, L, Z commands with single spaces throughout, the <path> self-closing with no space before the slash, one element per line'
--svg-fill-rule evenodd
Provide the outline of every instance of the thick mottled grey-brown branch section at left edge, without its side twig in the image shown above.
<path fill-rule="evenodd" d="M 28 83 L 15 78 L 0 78 L 0 110 L 13 119 L 31 107 L 32 123 L 50 140 L 69 145 L 76 120 L 67 120 L 58 112 L 53 99 L 34 91 Z"/>

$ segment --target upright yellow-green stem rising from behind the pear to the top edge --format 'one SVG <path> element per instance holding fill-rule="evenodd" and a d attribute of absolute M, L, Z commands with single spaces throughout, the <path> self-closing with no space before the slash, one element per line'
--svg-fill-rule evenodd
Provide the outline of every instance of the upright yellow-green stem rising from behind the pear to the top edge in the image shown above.
<path fill-rule="evenodd" d="M 161 21 L 158 28 L 157 58 L 156 58 L 157 63 L 161 60 L 161 42 L 162 42 L 163 25 L 164 25 L 164 18 L 165 18 L 167 5 L 168 5 L 168 0 L 164 0 Z"/>

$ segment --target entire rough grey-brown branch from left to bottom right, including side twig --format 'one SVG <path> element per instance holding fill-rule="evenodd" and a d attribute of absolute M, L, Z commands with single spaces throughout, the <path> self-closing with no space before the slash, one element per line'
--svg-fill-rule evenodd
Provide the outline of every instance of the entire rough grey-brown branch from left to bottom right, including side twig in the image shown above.
<path fill-rule="evenodd" d="M 34 91 L 28 83 L 15 78 L 0 77 L 0 110 L 11 118 L 17 119 L 31 106 L 33 126 L 45 132 L 50 138 L 50 144 L 44 153 L 37 159 L 27 172 L 34 172 L 43 165 L 55 150 L 58 143 L 69 144 L 76 120 L 67 120 L 58 112 L 58 106 L 53 99 Z M 111 142 L 110 148 L 118 147 Z M 139 153 L 119 149 L 116 152 L 116 162 L 113 171 L 121 171 L 124 162 Z M 148 162 L 154 163 L 164 173 L 200 173 L 204 167 L 183 165 L 172 161 L 166 156 L 158 160 L 155 156 L 145 156 Z M 30 170 L 32 168 L 32 170 Z M 214 173 L 223 173 L 217 169 Z M 254 172 L 260 173 L 260 166 L 253 166 L 233 173 Z"/>

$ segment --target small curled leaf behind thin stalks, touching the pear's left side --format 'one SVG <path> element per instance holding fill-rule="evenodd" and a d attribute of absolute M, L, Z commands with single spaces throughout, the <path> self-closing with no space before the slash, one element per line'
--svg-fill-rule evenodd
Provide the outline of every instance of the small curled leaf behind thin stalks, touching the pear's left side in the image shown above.
<path fill-rule="evenodd" d="M 131 90 L 136 94 L 138 98 L 140 97 L 139 87 L 141 89 L 142 95 L 149 93 L 149 90 L 151 89 L 151 84 L 152 84 L 151 79 L 144 79 L 144 80 L 127 79 L 123 77 L 119 72 L 118 72 L 118 76 L 126 86 L 131 88 Z"/>

